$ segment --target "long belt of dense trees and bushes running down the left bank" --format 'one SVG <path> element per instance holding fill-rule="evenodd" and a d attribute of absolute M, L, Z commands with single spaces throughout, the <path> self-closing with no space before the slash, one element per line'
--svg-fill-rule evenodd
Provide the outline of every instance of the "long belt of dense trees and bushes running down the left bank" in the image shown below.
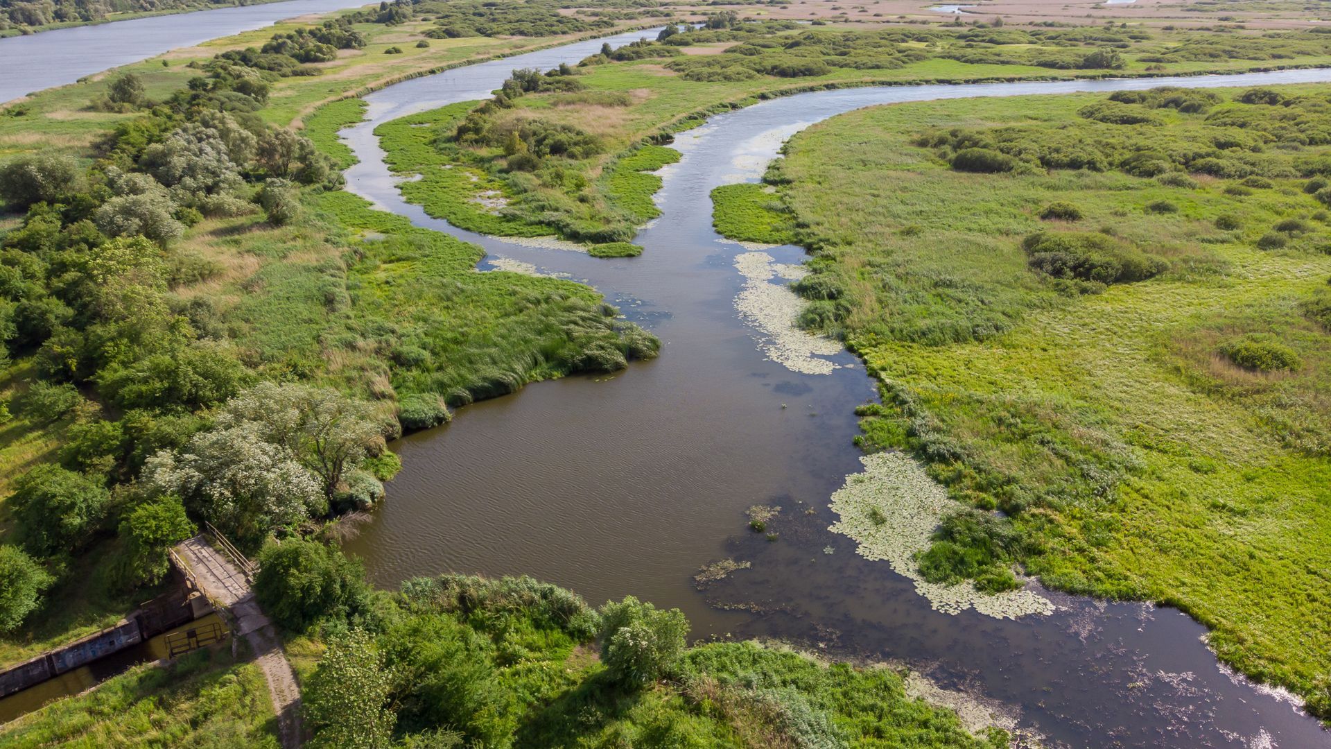
<path fill-rule="evenodd" d="M 281 73 L 250 63 L 357 45 L 341 21 L 277 35 L 201 65 L 157 104 L 124 75 L 95 107 L 144 113 L 98 144 L 91 169 L 49 152 L 0 164 L 0 197 L 27 212 L 0 239 L 0 364 L 28 357 L 37 374 L 0 418 L 73 418 L 59 462 L 17 477 L 7 501 L 17 545 L 0 546 L 0 629 L 95 545 L 112 560 L 97 584 L 130 590 L 161 578 L 166 548 L 196 522 L 257 548 L 382 497 L 361 466 L 398 429 L 391 414 L 258 381 L 216 311 L 170 292 L 198 273 L 174 248 L 188 227 L 258 209 L 284 224 L 301 185 L 338 183 L 307 139 L 254 113 Z"/>

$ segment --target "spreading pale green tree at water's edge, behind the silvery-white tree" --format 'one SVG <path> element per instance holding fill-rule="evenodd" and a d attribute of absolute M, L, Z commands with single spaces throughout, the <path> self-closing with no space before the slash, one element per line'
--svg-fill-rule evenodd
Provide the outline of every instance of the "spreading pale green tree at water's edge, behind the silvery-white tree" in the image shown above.
<path fill-rule="evenodd" d="M 217 424 L 253 424 L 313 470 L 329 497 L 370 450 L 383 446 L 371 406 L 331 388 L 260 382 L 228 401 Z"/>

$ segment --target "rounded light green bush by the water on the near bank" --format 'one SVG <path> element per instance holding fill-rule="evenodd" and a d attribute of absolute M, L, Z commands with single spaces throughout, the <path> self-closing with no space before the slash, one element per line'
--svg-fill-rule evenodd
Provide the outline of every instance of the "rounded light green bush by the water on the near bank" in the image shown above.
<path fill-rule="evenodd" d="M 600 660 L 619 684 L 651 684 L 684 652 L 688 620 L 679 609 L 658 610 L 628 596 L 602 606 L 600 616 Z"/>

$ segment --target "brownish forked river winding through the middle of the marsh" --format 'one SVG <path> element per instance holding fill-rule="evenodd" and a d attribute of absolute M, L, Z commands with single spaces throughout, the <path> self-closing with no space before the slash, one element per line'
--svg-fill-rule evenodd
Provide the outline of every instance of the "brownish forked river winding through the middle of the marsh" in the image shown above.
<path fill-rule="evenodd" d="M 872 104 L 1308 83 L 1331 80 L 1331 71 L 861 88 L 764 101 L 676 137 L 683 160 L 663 172 L 663 216 L 639 233 L 646 252 L 636 259 L 474 235 L 401 199 L 371 133 L 377 124 L 488 96 L 512 68 L 575 63 L 600 44 L 397 84 L 367 96 L 367 121 L 342 133 L 361 160 L 347 172 L 353 192 L 480 244 L 490 253 L 482 271 L 522 267 L 586 281 L 664 341 L 659 360 L 618 376 L 534 384 L 397 442 L 405 468 L 349 544 L 378 582 L 445 570 L 528 573 L 594 602 L 631 593 L 684 609 L 699 637 L 784 637 L 905 661 L 945 688 L 1000 701 L 1046 745 L 1327 745 L 1294 701 L 1221 668 L 1205 629 L 1174 609 L 1042 592 L 1057 605 L 1050 616 L 949 616 L 829 532 L 829 496 L 861 469 L 852 412 L 874 397 L 872 382 L 844 351 L 788 356 L 739 313 L 741 295 L 768 299 L 765 285 L 788 283 L 781 276 L 803 252 L 764 248 L 763 257 L 721 240 L 708 193 L 756 180 L 781 141 L 809 124 Z M 760 272 L 745 277 L 737 264 Z M 773 351 L 821 373 L 792 371 Z M 768 522 L 775 542 L 747 528 L 744 510 L 759 504 L 783 508 Z M 752 566 L 699 592 L 699 566 L 727 557 Z"/>

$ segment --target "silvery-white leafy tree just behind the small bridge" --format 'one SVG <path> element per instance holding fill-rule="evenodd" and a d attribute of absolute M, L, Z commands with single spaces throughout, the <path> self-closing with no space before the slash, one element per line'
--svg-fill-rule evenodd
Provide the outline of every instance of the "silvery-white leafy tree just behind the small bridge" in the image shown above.
<path fill-rule="evenodd" d="M 180 453 L 158 452 L 144 464 L 144 481 L 246 541 L 327 506 L 318 480 L 250 422 L 194 434 Z"/>

